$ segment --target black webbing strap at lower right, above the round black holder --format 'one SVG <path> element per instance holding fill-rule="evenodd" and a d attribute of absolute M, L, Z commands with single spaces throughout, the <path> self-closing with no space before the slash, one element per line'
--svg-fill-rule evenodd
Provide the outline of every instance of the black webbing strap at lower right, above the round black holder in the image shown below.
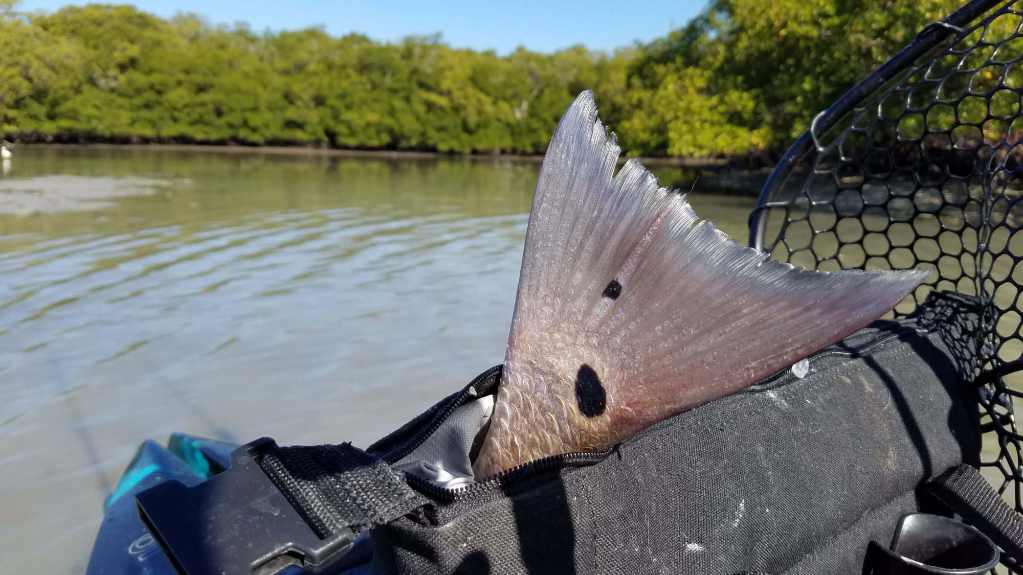
<path fill-rule="evenodd" d="M 928 483 L 927 490 L 990 537 L 1007 556 L 1023 561 L 1023 517 L 977 470 L 967 465 L 952 468 Z"/>

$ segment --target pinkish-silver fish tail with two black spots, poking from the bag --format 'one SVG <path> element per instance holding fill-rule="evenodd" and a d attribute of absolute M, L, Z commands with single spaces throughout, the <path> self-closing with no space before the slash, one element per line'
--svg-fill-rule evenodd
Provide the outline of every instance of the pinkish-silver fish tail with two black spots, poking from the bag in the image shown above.
<path fill-rule="evenodd" d="M 807 271 L 700 221 L 620 154 L 592 94 L 547 148 L 478 478 L 602 450 L 748 387 L 891 309 L 926 270 Z"/>

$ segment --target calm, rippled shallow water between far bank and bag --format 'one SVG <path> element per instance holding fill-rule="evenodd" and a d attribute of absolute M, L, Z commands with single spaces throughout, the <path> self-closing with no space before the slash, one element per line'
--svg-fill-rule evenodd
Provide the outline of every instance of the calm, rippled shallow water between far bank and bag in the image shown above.
<path fill-rule="evenodd" d="M 365 445 L 499 363 L 539 165 L 21 146 L 2 168 L 0 555 L 70 573 L 142 439 Z M 752 197 L 691 197 L 745 239 Z"/>

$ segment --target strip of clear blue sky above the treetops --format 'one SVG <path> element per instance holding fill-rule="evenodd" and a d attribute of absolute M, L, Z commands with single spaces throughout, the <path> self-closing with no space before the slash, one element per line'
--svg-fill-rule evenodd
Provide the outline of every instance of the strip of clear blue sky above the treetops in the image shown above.
<path fill-rule="evenodd" d="M 117 0 L 105 0 L 117 3 Z M 55 10 L 68 0 L 23 0 L 18 10 Z M 323 26 L 333 35 L 359 32 L 394 41 L 410 34 L 441 32 L 455 47 L 495 49 L 523 45 L 549 52 L 582 44 L 613 50 L 649 41 L 683 26 L 705 0 L 137 0 L 127 2 L 161 16 L 195 12 L 213 24 L 247 21 L 256 31 Z"/>

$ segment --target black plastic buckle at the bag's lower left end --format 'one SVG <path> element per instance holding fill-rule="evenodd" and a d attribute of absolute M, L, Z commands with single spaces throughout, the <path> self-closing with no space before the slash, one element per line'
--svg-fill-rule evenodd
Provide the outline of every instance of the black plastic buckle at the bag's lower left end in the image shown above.
<path fill-rule="evenodd" d="M 259 461 L 270 438 L 231 452 L 231 467 L 187 487 L 165 481 L 136 495 L 138 512 L 171 563 L 187 575 L 323 573 L 355 541 L 351 529 L 321 539 Z"/>

